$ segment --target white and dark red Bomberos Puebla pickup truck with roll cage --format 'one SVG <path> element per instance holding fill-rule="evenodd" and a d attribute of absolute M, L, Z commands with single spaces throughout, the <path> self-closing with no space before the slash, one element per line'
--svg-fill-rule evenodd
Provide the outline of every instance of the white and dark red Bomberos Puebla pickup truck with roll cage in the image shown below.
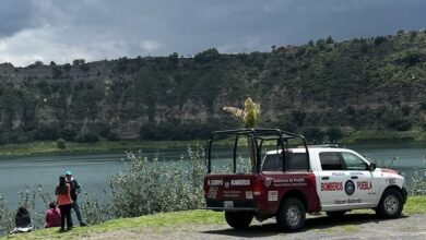
<path fill-rule="evenodd" d="M 226 137 L 235 137 L 232 170 L 212 172 L 214 142 Z M 292 146 L 294 140 L 303 147 Z M 265 151 L 271 141 L 274 149 Z M 240 146 L 241 142 L 246 144 Z M 239 149 L 248 149 L 250 155 L 246 172 L 238 171 Z M 362 208 L 397 218 L 407 197 L 404 178 L 397 171 L 376 168 L 347 148 L 308 146 L 301 135 L 281 130 L 214 132 L 206 151 L 205 208 L 225 212 L 226 221 L 234 228 L 248 227 L 253 217 L 275 217 L 281 229 L 297 230 L 304 226 L 306 213 L 339 216 Z"/>

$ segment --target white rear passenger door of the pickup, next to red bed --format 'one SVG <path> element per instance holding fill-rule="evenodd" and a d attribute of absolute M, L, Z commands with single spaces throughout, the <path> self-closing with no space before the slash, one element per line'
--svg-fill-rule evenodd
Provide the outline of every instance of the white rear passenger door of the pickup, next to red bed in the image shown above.
<path fill-rule="evenodd" d="M 319 153 L 319 158 L 322 170 L 316 176 L 322 211 L 345 209 L 347 207 L 345 182 L 350 179 L 350 175 L 344 170 L 340 154 L 323 152 Z"/>

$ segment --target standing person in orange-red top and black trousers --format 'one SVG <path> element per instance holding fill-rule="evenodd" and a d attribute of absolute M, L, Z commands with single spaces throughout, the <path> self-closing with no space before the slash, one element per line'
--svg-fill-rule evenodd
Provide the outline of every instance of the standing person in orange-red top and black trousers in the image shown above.
<path fill-rule="evenodd" d="M 61 211 L 61 228 L 59 231 L 66 230 L 66 221 L 67 221 L 67 230 L 72 229 L 72 219 L 71 219 L 71 187 L 67 183 L 66 177 L 59 177 L 59 184 L 56 187 L 55 194 L 57 195 L 57 202 L 59 205 L 59 209 Z"/>

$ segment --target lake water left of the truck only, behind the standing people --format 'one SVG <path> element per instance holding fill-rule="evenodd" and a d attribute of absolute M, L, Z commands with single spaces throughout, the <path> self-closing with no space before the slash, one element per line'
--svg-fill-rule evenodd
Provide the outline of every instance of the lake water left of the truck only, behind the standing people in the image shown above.
<path fill-rule="evenodd" d="M 181 148 L 147 152 L 143 155 L 171 160 L 179 159 L 185 152 L 186 148 Z M 125 152 L 0 157 L 0 196 L 10 206 L 17 206 L 20 192 L 25 192 L 26 189 L 37 191 L 42 185 L 54 197 L 59 176 L 71 170 L 83 191 L 93 196 L 105 197 L 104 190 L 108 189 L 109 177 L 122 169 L 126 159 Z"/>

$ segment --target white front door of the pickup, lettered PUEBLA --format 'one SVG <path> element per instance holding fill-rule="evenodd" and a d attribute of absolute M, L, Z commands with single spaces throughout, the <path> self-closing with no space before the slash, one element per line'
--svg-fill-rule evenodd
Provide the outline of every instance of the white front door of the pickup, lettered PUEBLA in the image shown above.
<path fill-rule="evenodd" d="M 346 172 L 351 176 L 351 181 L 355 185 L 355 191 L 348 197 L 347 205 L 350 207 L 377 205 L 379 182 L 378 178 L 374 178 L 374 173 L 369 170 L 367 161 L 354 153 L 343 152 L 341 154 Z"/>

